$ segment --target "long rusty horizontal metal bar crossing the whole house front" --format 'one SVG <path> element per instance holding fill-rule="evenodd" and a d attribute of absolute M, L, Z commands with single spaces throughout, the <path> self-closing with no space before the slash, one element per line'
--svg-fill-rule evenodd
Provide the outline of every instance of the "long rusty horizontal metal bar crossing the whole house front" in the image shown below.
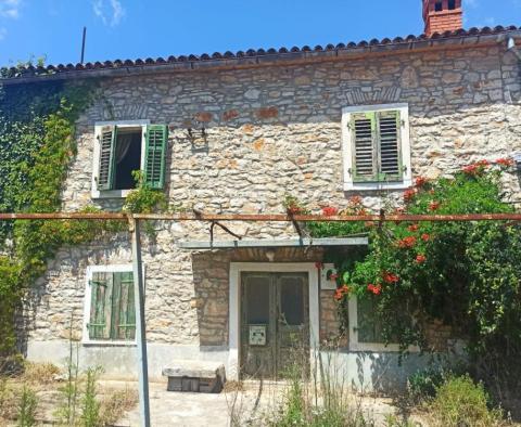
<path fill-rule="evenodd" d="M 443 222 L 443 221 L 521 221 L 521 214 L 471 214 L 471 215 L 280 215 L 280 214 L 118 214 L 118 212 L 51 212 L 51 214 L 0 214 L 0 221 L 7 220 L 118 220 L 129 219 L 156 221 L 245 221 L 245 222 Z"/>

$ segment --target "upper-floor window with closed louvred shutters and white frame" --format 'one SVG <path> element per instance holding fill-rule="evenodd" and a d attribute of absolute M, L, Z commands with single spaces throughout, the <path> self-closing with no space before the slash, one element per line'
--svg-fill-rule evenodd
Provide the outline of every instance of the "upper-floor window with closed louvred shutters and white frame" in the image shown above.
<path fill-rule="evenodd" d="M 411 185 L 407 104 L 343 108 L 342 135 L 344 190 Z"/>

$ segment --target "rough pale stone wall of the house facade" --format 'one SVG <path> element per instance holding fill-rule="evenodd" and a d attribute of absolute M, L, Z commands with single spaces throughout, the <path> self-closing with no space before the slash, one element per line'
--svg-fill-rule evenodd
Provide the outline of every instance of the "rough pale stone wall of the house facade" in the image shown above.
<path fill-rule="evenodd" d="M 282 212 L 287 192 L 314 209 L 346 206 L 356 193 L 343 191 L 345 106 L 409 104 L 414 177 L 449 174 L 470 161 L 521 151 L 520 67 L 499 46 L 305 66 L 111 78 L 101 82 L 101 93 L 78 121 L 78 155 L 63 192 L 66 210 L 92 203 L 109 209 L 120 206 L 120 200 L 90 196 L 99 120 L 168 124 L 168 197 L 171 204 L 213 212 Z M 203 126 L 207 138 L 191 141 L 187 128 Z M 519 195 L 516 178 L 507 184 Z M 381 194 L 361 195 L 370 206 L 379 206 Z M 176 247 L 180 240 L 208 240 L 207 224 L 155 227 L 156 237 L 145 238 L 143 245 L 149 340 L 226 345 L 228 264 L 239 255 L 192 254 Z M 285 223 L 229 227 L 251 238 L 294 235 Z M 218 231 L 216 238 L 230 236 Z M 320 260 L 313 254 L 306 259 Z M 263 254 L 256 255 L 249 259 L 266 261 Z M 71 310 L 81 318 L 88 264 L 126 262 L 130 250 L 125 235 L 109 244 L 100 241 L 61 250 L 37 289 L 31 339 L 63 338 Z M 321 299 L 330 306 L 327 296 Z M 327 335 L 334 321 L 329 314 L 322 321 Z"/>

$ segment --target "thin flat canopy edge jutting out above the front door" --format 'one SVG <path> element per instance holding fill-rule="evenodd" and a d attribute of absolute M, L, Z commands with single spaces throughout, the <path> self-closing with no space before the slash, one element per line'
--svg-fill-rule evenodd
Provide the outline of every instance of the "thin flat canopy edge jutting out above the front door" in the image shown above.
<path fill-rule="evenodd" d="M 264 241 L 193 241 L 178 242 L 181 249 L 227 249 L 245 247 L 365 246 L 367 237 L 288 238 Z"/>

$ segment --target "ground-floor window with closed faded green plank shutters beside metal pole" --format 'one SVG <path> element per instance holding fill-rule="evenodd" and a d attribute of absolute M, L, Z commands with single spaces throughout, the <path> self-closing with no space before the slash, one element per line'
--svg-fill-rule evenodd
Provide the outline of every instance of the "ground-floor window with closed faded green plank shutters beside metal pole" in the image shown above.
<path fill-rule="evenodd" d="M 86 293 L 89 341 L 134 341 L 136 311 L 131 266 L 91 267 Z"/>

